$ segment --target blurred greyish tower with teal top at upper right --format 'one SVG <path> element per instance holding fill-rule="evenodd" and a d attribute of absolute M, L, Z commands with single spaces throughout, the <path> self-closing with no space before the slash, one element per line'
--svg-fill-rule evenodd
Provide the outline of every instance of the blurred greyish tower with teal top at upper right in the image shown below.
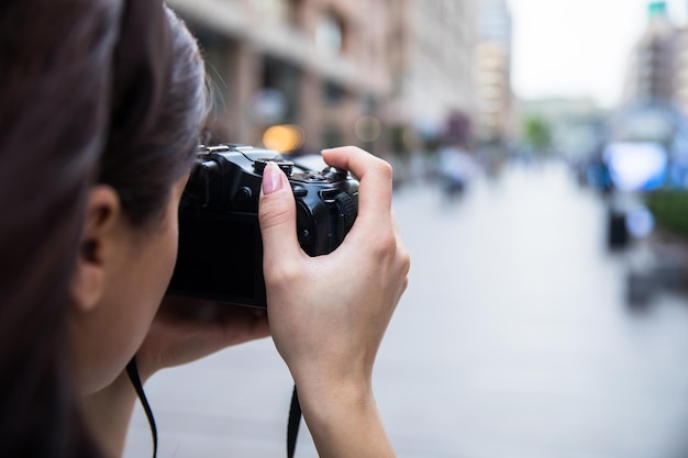
<path fill-rule="evenodd" d="M 666 2 L 650 3 L 647 26 L 631 54 L 624 101 L 674 101 L 678 49 L 679 32 L 669 20 Z"/>

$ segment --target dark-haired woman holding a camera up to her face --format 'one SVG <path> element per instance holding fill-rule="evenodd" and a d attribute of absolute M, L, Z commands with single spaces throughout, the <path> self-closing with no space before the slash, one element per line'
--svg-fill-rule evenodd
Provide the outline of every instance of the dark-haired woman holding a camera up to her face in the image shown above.
<path fill-rule="evenodd" d="M 240 308 L 212 323 L 175 320 L 179 304 L 160 301 L 206 114 L 193 40 L 159 0 L 3 2 L 0 35 L 3 451 L 120 456 L 134 355 L 145 380 L 269 333 L 321 456 L 393 456 L 370 387 L 409 269 L 389 166 L 357 148 L 323 152 L 359 177 L 359 215 L 318 258 L 301 252 L 290 187 L 269 166 L 259 205 L 269 328 Z"/>

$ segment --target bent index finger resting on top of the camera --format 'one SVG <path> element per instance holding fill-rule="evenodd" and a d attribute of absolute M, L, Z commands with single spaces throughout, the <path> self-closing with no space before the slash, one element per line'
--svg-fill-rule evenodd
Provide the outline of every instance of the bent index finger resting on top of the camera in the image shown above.
<path fill-rule="evenodd" d="M 358 217 L 388 221 L 392 196 L 391 166 L 354 146 L 324 149 L 322 155 L 330 166 L 349 170 L 360 181 Z"/>

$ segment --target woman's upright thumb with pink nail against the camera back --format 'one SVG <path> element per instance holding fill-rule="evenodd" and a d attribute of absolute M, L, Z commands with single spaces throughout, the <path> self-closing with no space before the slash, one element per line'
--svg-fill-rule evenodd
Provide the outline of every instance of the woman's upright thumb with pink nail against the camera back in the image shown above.
<path fill-rule="evenodd" d="M 296 201 L 287 177 L 275 163 L 268 163 L 263 172 L 258 222 L 265 267 L 275 266 L 280 259 L 293 259 L 301 253 Z"/>

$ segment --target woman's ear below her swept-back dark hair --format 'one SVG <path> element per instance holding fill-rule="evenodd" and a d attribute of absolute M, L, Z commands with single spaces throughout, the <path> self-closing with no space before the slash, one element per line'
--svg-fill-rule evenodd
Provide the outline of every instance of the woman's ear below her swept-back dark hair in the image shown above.
<path fill-rule="evenodd" d="M 84 232 L 71 279 L 75 311 L 88 313 L 102 300 L 107 268 L 115 254 L 115 237 L 121 204 L 116 191 L 107 185 L 97 185 L 86 202 Z"/>

